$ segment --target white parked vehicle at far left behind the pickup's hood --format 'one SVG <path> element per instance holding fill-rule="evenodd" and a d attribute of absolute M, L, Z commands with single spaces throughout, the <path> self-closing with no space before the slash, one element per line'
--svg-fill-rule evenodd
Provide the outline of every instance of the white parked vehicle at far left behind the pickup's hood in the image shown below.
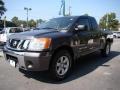
<path fill-rule="evenodd" d="M 23 32 L 21 27 L 7 27 L 0 32 L 0 44 L 4 44 L 7 41 L 7 38 L 15 33 Z"/>

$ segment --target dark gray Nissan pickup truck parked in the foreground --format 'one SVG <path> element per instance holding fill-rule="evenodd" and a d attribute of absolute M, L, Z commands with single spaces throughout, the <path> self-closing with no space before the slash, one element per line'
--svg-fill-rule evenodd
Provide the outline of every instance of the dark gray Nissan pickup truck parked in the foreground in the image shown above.
<path fill-rule="evenodd" d="M 112 41 L 91 16 L 53 18 L 34 31 L 11 35 L 4 47 L 6 61 L 27 71 L 49 70 L 66 78 L 77 58 L 100 50 L 110 54 Z"/>

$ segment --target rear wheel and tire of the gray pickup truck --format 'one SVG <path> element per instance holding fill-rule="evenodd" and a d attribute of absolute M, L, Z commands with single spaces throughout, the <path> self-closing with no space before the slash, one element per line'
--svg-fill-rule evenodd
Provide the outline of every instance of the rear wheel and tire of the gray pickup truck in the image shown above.
<path fill-rule="evenodd" d="M 103 57 L 107 57 L 109 56 L 110 52 L 111 52 L 111 44 L 110 42 L 107 42 L 105 48 L 101 50 L 101 55 Z"/>

